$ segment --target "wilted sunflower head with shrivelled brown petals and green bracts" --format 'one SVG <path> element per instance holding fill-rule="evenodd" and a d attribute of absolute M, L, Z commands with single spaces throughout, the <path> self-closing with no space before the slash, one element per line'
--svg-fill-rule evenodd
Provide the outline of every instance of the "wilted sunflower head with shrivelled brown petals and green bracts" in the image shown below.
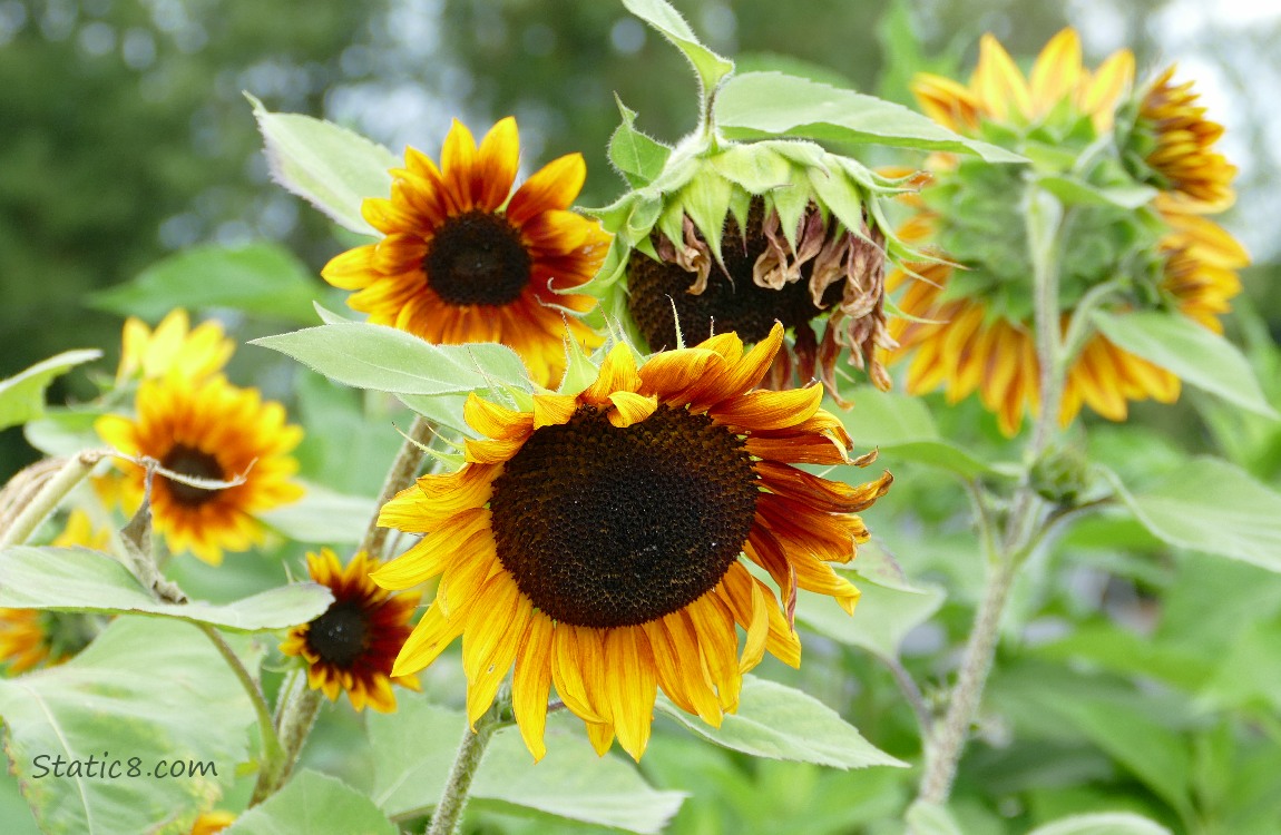
<path fill-rule="evenodd" d="M 888 231 L 881 202 L 913 190 L 911 178 L 770 140 L 676 149 L 634 184 L 600 211 L 615 242 L 592 287 L 638 341 L 660 351 L 733 330 L 755 343 L 780 321 L 789 345 L 765 378 L 770 388 L 817 377 L 839 398 L 842 351 L 889 388 L 876 357 L 893 346 L 885 269 L 920 254 Z"/>

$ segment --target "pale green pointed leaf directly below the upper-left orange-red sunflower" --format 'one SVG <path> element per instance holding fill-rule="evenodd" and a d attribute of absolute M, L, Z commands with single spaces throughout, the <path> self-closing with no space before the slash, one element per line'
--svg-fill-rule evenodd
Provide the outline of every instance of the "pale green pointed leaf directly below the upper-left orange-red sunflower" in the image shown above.
<path fill-rule="evenodd" d="M 368 323 L 319 325 L 254 339 L 355 388 L 392 394 L 465 394 L 494 385 L 529 388 L 529 373 L 503 345 L 429 345 Z"/>

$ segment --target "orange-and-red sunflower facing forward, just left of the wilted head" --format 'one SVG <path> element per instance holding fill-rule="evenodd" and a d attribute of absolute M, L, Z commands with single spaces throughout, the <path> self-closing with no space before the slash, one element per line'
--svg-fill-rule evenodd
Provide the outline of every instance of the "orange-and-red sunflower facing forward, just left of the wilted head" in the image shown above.
<path fill-rule="evenodd" d="M 511 195 L 519 154 L 510 117 L 479 149 L 455 120 L 439 168 L 407 149 L 405 168 L 392 170 L 391 199 L 361 206 L 386 237 L 334 257 L 322 275 L 359 291 L 347 304 L 375 324 L 432 343 L 502 342 L 537 380 L 555 385 L 566 328 L 574 339 L 600 345 L 576 315 L 564 314 L 594 305 L 569 291 L 596 274 L 610 236 L 569 211 L 587 175 L 580 154 L 548 163 Z"/>

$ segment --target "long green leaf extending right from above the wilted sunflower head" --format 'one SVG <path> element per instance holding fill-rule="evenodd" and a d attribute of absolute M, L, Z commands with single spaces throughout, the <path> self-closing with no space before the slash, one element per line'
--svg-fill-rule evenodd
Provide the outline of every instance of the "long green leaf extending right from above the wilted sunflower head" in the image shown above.
<path fill-rule="evenodd" d="M 1021 163 L 1006 149 L 968 140 L 902 105 L 783 73 L 734 76 L 716 93 L 716 126 L 731 140 L 810 140 L 974 154 Z"/>

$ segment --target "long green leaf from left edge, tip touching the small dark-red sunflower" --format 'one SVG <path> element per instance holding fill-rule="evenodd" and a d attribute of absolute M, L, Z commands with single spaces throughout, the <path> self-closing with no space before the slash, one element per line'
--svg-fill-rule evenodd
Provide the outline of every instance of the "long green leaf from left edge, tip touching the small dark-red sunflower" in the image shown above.
<path fill-rule="evenodd" d="M 96 551 L 14 546 L 0 551 L 0 607 L 152 615 L 236 631 L 288 629 L 323 613 L 329 589 L 293 583 L 234 603 L 163 603 L 128 569 Z"/>

